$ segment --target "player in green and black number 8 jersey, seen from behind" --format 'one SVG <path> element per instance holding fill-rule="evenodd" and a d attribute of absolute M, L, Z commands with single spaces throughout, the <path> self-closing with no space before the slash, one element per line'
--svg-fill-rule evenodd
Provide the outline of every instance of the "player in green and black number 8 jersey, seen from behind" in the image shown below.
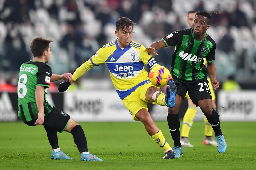
<path fill-rule="evenodd" d="M 52 146 L 52 159 L 71 159 L 58 146 L 58 132 L 67 131 L 73 135 L 74 142 L 81 153 L 82 161 L 102 161 L 88 152 L 87 141 L 82 127 L 67 113 L 52 106 L 46 100 L 50 82 L 71 80 L 71 73 L 52 74 L 46 63 L 51 56 L 51 40 L 36 37 L 31 41 L 30 48 L 33 60 L 20 66 L 18 82 L 19 118 L 29 126 L 43 125 Z"/>

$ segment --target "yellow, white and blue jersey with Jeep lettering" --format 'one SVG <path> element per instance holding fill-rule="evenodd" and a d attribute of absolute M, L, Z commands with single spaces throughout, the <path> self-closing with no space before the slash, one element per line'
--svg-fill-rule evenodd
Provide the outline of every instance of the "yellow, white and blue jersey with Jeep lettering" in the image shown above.
<path fill-rule="evenodd" d="M 148 72 L 143 66 L 150 58 L 151 55 L 143 45 L 131 41 L 127 47 L 121 49 L 116 40 L 100 48 L 90 61 L 95 66 L 107 64 L 116 91 L 124 99 L 149 80 Z"/>

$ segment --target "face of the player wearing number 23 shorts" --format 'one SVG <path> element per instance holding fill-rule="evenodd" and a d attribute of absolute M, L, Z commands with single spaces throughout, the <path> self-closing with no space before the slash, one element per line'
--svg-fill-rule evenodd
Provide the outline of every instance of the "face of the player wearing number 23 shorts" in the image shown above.
<path fill-rule="evenodd" d="M 194 20 L 194 33 L 196 35 L 203 35 L 210 26 L 207 22 L 207 17 L 196 15 Z"/>

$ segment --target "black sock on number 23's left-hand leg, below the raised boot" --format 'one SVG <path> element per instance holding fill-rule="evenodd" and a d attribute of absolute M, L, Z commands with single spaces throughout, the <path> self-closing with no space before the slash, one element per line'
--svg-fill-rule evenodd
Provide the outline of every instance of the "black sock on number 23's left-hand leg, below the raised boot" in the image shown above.
<path fill-rule="evenodd" d="M 167 116 L 167 122 L 169 125 L 170 133 L 172 136 L 172 140 L 174 142 L 174 146 L 180 146 L 180 120 L 179 120 L 179 115 L 171 115 L 168 113 Z"/>

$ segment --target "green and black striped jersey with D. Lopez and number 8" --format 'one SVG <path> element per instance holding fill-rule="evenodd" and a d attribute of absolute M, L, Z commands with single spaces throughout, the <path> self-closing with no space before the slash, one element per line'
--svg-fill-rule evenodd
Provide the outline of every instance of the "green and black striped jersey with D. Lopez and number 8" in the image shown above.
<path fill-rule="evenodd" d="M 50 85 L 52 69 L 43 62 L 30 60 L 20 66 L 18 82 L 18 116 L 23 122 L 37 119 L 36 86 L 44 86 L 44 116 L 50 114 L 53 106 L 47 102 L 46 94 Z"/>

